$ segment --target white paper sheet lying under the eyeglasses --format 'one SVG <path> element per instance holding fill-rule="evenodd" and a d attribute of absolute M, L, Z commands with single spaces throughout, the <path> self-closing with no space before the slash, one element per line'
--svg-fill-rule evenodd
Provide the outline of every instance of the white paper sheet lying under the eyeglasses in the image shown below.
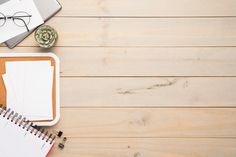
<path fill-rule="evenodd" d="M 32 15 L 28 24 L 29 30 L 44 23 L 33 0 L 10 0 L 0 5 L 0 12 L 6 16 L 12 16 L 19 11 Z M 15 25 L 12 19 L 8 19 L 5 25 L 0 27 L 0 43 L 25 32 L 27 32 L 25 27 L 19 27 Z"/>

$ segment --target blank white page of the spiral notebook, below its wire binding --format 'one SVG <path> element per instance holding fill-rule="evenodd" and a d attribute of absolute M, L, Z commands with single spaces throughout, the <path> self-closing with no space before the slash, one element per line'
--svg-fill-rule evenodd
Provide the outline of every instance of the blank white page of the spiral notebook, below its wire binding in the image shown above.
<path fill-rule="evenodd" d="M 0 157 L 46 157 L 54 142 L 42 140 L 0 115 Z"/>

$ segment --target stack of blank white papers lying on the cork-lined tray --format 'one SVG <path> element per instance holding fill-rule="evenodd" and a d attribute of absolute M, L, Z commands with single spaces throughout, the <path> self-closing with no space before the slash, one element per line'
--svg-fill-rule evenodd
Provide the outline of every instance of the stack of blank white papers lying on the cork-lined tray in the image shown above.
<path fill-rule="evenodd" d="M 7 107 L 29 120 L 52 120 L 51 61 L 9 61 L 5 67 Z"/>

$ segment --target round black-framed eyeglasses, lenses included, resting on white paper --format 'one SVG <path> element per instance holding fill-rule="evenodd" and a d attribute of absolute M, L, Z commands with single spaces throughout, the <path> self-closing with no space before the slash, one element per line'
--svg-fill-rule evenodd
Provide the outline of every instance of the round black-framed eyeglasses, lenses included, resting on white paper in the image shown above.
<path fill-rule="evenodd" d="M 0 12 L 0 27 L 4 26 L 6 21 L 11 19 L 14 24 L 18 27 L 25 27 L 29 32 L 28 25 L 30 23 L 32 15 L 29 15 L 27 12 L 19 11 L 12 16 L 6 16 Z"/>

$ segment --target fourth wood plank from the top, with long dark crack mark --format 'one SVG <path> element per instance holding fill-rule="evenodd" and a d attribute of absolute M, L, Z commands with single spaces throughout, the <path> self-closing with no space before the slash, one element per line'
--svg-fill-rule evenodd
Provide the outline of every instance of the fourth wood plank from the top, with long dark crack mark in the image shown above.
<path fill-rule="evenodd" d="M 76 107 L 235 107 L 236 78 L 62 78 L 61 104 Z"/>

